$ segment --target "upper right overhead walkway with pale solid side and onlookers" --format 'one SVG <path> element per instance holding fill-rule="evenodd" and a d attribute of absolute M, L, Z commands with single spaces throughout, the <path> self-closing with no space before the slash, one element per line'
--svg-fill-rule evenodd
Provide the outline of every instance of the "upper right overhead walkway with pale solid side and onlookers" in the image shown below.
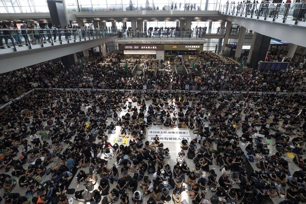
<path fill-rule="evenodd" d="M 306 47 L 306 3 L 222 4 L 219 13 L 253 32 Z"/>

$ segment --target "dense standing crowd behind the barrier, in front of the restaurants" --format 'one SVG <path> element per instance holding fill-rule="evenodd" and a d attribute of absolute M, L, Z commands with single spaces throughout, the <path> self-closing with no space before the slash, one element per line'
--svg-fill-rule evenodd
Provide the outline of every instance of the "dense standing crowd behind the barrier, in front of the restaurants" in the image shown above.
<path fill-rule="evenodd" d="M 291 59 L 289 69 L 270 72 L 244 72 L 235 64 L 225 65 L 217 55 L 209 51 L 199 53 L 201 61 L 196 71 L 189 74 L 169 72 L 146 72 L 132 76 L 124 72 L 119 63 L 124 61 L 120 52 L 110 53 L 112 65 L 104 65 L 103 58 L 97 58 L 84 68 L 65 67 L 61 63 L 44 62 L 0 75 L 2 103 L 19 96 L 32 88 L 94 88 L 94 89 L 190 89 L 216 91 L 264 91 L 304 92 L 306 76 L 304 57 Z M 273 59 L 273 58 L 272 58 Z M 150 60 L 144 61 L 148 67 Z M 277 61 L 277 59 L 274 59 Z M 115 77 L 114 77 L 115 76 Z M 196 79 L 196 80 L 195 80 Z"/>

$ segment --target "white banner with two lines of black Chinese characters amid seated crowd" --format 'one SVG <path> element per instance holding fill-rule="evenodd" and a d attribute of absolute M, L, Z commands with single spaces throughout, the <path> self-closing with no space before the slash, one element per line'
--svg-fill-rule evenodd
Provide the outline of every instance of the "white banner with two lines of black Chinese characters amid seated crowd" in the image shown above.
<path fill-rule="evenodd" d="M 157 134 L 160 141 L 179 141 L 186 139 L 188 142 L 191 141 L 189 130 L 163 130 L 163 129 L 149 129 L 148 140 L 153 141 Z"/>

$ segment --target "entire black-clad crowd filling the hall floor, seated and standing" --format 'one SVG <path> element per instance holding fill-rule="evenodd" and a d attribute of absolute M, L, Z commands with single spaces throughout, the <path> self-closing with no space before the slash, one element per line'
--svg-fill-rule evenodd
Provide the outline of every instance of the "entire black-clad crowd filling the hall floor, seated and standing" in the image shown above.
<path fill-rule="evenodd" d="M 6 204 L 67 204 L 74 198 L 91 204 L 184 204 L 184 194 L 193 204 L 251 204 L 274 197 L 282 204 L 306 202 L 304 96 L 95 90 L 302 91 L 305 73 L 298 60 L 287 72 L 244 73 L 204 51 L 198 57 L 211 66 L 199 65 L 189 75 L 132 76 L 119 66 L 123 55 L 108 57 L 112 63 L 105 67 L 100 64 L 104 59 L 96 58 L 83 68 L 45 62 L 1 75 L 2 100 L 34 87 L 94 88 L 35 90 L 1 110 L 0 165 L 5 172 L 0 185 Z M 190 130 L 194 136 L 172 152 L 159 135 L 147 138 L 147 128 L 155 125 Z M 110 140 L 114 134 L 117 142 Z M 125 138 L 127 144 L 121 144 Z M 266 139 L 273 141 L 275 152 Z M 173 168 L 170 158 L 177 162 Z M 252 162 L 257 170 L 247 172 Z M 299 170 L 290 172 L 289 165 Z M 74 177 L 75 192 L 70 186 Z M 24 189 L 16 191 L 15 185 Z"/>

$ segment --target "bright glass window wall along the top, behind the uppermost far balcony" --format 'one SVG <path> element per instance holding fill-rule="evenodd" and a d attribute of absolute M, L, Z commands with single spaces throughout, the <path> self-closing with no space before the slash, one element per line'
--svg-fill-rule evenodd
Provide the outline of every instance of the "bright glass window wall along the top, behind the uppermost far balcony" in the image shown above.
<path fill-rule="evenodd" d="M 65 0 L 68 12 L 136 10 L 217 10 L 226 0 Z M 0 0 L 0 13 L 49 12 L 46 0 Z"/>

